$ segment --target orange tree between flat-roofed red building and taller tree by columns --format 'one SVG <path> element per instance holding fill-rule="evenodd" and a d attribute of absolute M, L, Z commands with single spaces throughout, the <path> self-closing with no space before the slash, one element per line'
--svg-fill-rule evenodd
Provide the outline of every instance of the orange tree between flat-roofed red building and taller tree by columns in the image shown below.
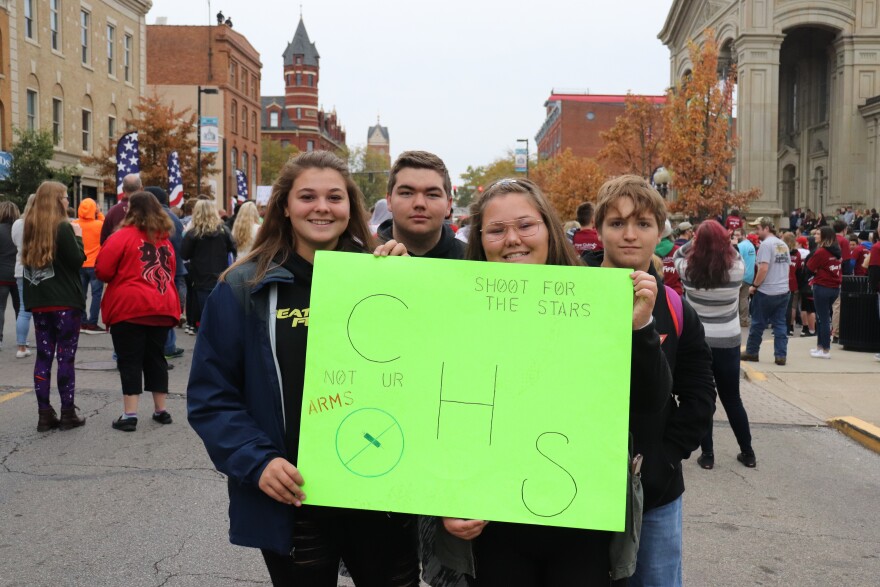
<path fill-rule="evenodd" d="M 646 96 L 627 94 L 623 114 L 617 117 L 613 127 L 599 133 L 599 137 L 605 146 L 598 158 L 606 169 L 650 179 L 651 173 L 661 165 L 662 104 Z"/>

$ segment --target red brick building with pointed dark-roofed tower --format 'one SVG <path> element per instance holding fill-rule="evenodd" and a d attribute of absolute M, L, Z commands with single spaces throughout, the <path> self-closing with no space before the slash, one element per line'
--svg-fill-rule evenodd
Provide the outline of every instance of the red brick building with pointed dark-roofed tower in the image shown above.
<path fill-rule="evenodd" d="M 262 132 L 267 138 L 295 145 L 300 151 L 345 147 L 345 129 L 336 111 L 319 107 L 320 60 L 300 17 L 293 40 L 284 50 L 284 95 L 262 98 Z"/>

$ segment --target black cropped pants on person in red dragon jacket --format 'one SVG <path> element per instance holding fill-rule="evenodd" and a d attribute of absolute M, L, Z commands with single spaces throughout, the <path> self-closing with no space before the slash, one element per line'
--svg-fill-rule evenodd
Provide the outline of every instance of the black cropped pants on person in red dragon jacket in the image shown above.
<path fill-rule="evenodd" d="M 139 395 L 144 390 L 168 393 L 167 326 L 118 322 L 110 326 L 110 336 L 123 395 Z"/>

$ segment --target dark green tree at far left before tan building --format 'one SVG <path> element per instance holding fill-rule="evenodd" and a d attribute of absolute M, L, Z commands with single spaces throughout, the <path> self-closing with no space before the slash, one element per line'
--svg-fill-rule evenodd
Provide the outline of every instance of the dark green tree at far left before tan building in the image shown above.
<path fill-rule="evenodd" d="M 12 147 L 12 164 L 9 175 L 0 181 L 0 190 L 6 199 L 24 208 L 30 194 L 46 180 L 59 181 L 67 186 L 71 182 L 68 167 L 53 168 L 49 161 L 55 154 L 52 133 L 48 130 L 13 129 L 17 141 Z"/>

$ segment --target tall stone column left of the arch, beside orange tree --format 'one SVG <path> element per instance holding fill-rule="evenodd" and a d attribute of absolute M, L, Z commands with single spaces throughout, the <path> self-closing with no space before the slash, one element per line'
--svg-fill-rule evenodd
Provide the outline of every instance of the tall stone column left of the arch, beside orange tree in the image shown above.
<path fill-rule="evenodd" d="M 783 211 L 777 184 L 779 127 L 779 50 L 783 35 L 740 35 L 736 40 L 737 129 L 736 189 L 760 188 L 750 214 Z"/>

